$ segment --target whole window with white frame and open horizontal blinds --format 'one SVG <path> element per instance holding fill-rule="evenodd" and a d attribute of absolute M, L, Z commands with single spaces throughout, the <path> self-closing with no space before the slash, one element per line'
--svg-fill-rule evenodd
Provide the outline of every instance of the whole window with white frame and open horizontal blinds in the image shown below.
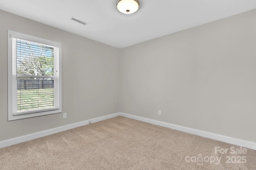
<path fill-rule="evenodd" d="M 8 121 L 60 113 L 61 43 L 8 30 Z"/>

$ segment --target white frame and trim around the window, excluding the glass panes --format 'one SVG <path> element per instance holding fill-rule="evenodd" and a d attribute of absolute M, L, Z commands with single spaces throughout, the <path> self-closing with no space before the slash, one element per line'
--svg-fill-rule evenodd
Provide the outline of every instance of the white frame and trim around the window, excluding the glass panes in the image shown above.
<path fill-rule="evenodd" d="M 41 110 L 41 112 L 36 111 L 36 113 L 27 113 L 27 114 L 17 114 L 14 111 L 15 101 L 14 101 L 14 95 L 16 94 L 14 90 L 17 90 L 15 82 L 16 81 L 16 72 L 13 71 L 13 64 L 16 65 L 16 60 L 14 61 L 14 54 L 16 49 L 13 50 L 13 39 L 22 39 L 25 41 L 31 41 L 34 43 L 40 43 L 52 47 L 58 48 L 58 57 L 59 57 L 59 65 L 58 65 L 58 85 L 55 85 L 54 83 L 54 89 L 58 89 L 58 95 L 55 97 L 58 98 L 58 108 L 55 110 L 46 111 L 44 109 Z M 16 47 L 15 47 L 16 48 Z M 61 113 L 62 112 L 62 57 L 61 57 L 61 51 L 62 51 L 62 44 L 51 41 L 48 39 L 42 39 L 39 37 L 34 37 L 32 35 L 26 35 L 24 33 L 19 33 L 15 31 L 8 30 L 8 121 L 17 120 L 17 119 L 24 119 L 29 117 L 36 117 L 36 116 L 42 116 L 42 115 L 49 115 L 54 113 Z M 14 63 L 15 62 L 15 63 Z M 16 89 L 15 89 L 15 88 Z M 16 96 L 17 98 L 17 96 Z"/>

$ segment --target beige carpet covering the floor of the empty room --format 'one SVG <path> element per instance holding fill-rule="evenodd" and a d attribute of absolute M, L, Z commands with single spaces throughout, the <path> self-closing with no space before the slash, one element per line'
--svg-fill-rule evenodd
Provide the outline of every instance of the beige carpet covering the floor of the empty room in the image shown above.
<path fill-rule="evenodd" d="M 256 150 L 232 154 L 230 147 L 240 149 L 119 116 L 2 148 L 0 169 L 256 170 Z"/>

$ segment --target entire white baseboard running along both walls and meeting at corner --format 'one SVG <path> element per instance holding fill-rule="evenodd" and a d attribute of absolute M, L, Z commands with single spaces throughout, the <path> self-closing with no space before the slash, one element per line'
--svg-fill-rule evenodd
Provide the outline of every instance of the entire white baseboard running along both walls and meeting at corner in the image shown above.
<path fill-rule="evenodd" d="M 73 129 L 73 128 L 76 128 L 76 127 L 80 127 L 80 126 L 83 126 L 83 125 L 88 125 L 89 121 L 91 121 L 91 123 L 95 123 L 95 122 L 110 119 L 112 117 L 116 117 L 116 116 L 119 116 L 119 115 L 123 116 L 123 117 L 128 117 L 130 119 L 136 119 L 138 121 L 144 121 L 144 122 L 151 123 L 151 124 L 154 124 L 154 125 L 159 125 L 159 126 L 167 127 L 167 128 L 170 128 L 170 129 L 175 129 L 175 130 L 178 130 L 178 131 L 190 133 L 190 134 L 193 134 L 193 135 L 207 137 L 207 138 L 214 139 L 214 140 L 217 140 L 217 141 L 230 143 L 232 145 L 238 145 L 238 146 L 242 146 L 242 147 L 246 147 L 246 148 L 249 148 L 249 149 L 256 150 L 256 143 L 254 143 L 254 142 L 244 141 L 244 140 L 241 140 L 241 139 L 227 137 L 227 136 L 224 136 L 224 135 L 218 135 L 218 134 L 210 133 L 210 132 L 206 132 L 206 131 L 200 131 L 200 130 L 197 130 L 197 129 L 192 129 L 192 128 L 188 128 L 188 127 L 184 127 L 184 126 L 180 126 L 180 125 L 174 125 L 174 124 L 171 124 L 171 123 L 166 123 L 166 122 L 157 121 L 157 120 L 154 120 L 154 119 L 148 119 L 148 118 L 145 118 L 145 117 L 130 115 L 130 114 L 121 113 L 121 112 L 110 114 L 110 115 L 105 115 L 105 116 L 101 116 L 101 117 L 96 117 L 94 119 L 80 121 L 80 122 L 77 122 L 77 123 L 72 123 L 72 124 L 69 124 L 69 125 L 61 126 L 61 127 L 56 127 L 56 128 L 53 128 L 53 129 L 48 129 L 48 130 L 40 131 L 40 132 L 37 132 L 37 133 L 31 133 L 29 135 L 24 135 L 24 136 L 21 136 L 21 137 L 7 139 L 5 141 L 0 141 L 0 148 L 8 147 L 8 146 L 15 145 L 15 144 L 22 143 L 22 142 L 26 142 L 26 141 L 30 141 L 32 139 L 44 137 L 44 136 L 47 136 L 47 135 L 52 135 L 54 133 L 66 131 L 66 130 Z"/>

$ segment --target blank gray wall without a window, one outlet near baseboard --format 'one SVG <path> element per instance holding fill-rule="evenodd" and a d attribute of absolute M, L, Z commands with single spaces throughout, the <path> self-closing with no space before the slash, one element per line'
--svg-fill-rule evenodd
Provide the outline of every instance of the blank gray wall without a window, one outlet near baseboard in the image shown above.
<path fill-rule="evenodd" d="M 256 10 L 120 56 L 121 112 L 256 142 Z"/>

